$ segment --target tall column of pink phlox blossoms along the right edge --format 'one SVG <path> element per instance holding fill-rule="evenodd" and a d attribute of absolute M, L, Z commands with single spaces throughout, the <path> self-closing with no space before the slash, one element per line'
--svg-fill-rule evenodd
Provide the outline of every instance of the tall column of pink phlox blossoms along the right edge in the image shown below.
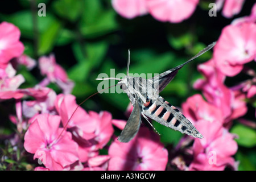
<path fill-rule="evenodd" d="M 246 63 L 256 61 L 255 7 L 256 4 L 251 15 L 235 19 L 223 28 L 212 59 L 198 66 L 204 78 L 197 80 L 194 88 L 203 92 L 205 100 L 195 94 L 183 103 L 182 109 L 204 138 L 193 142 L 193 160 L 187 169 L 237 169 L 238 162 L 232 157 L 238 149 L 236 135 L 229 133 L 229 129 L 234 119 L 247 113 L 246 100 L 256 94 L 255 72 L 246 67 Z M 241 72 L 251 78 L 230 87 L 225 85 L 227 76 Z"/>

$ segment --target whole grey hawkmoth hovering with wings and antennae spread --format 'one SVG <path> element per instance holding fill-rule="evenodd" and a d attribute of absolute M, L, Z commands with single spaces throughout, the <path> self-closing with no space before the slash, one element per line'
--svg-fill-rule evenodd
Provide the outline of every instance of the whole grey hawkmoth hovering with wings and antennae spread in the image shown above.
<path fill-rule="evenodd" d="M 181 133 L 191 135 L 195 138 L 203 138 L 203 135 L 197 131 L 196 127 L 185 118 L 185 116 L 169 102 L 165 101 L 163 97 L 159 96 L 159 93 L 170 83 L 170 81 L 176 76 L 179 69 L 185 64 L 199 57 L 203 53 L 211 49 L 216 43 L 210 44 L 202 51 L 197 53 L 191 59 L 185 63 L 169 69 L 166 72 L 160 73 L 158 76 L 146 79 L 142 77 L 129 76 L 130 66 L 130 51 L 128 51 L 128 61 L 126 76 L 122 79 L 119 78 L 97 78 L 96 80 L 119 80 L 117 85 L 121 86 L 129 97 L 131 104 L 133 105 L 133 111 L 127 123 L 122 130 L 118 140 L 120 142 L 129 142 L 138 133 L 141 125 L 141 115 L 148 121 L 148 118 L 154 119 L 161 125 L 170 127 L 171 129 L 178 130 Z M 150 123 L 148 121 L 148 123 Z M 151 125 L 152 126 L 152 125 Z"/>

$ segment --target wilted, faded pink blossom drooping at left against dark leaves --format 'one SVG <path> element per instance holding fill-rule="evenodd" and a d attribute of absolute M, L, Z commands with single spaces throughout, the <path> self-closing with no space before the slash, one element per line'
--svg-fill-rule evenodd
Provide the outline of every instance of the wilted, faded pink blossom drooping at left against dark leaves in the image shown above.
<path fill-rule="evenodd" d="M 74 84 L 68 79 L 68 75 L 65 70 L 56 63 L 54 55 L 50 55 L 49 57 L 40 57 L 39 68 L 41 74 L 47 76 L 40 85 L 46 86 L 49 82 L 55 82 L 61 89 L 63 89 L 64 94 L 72 92 Z"/>

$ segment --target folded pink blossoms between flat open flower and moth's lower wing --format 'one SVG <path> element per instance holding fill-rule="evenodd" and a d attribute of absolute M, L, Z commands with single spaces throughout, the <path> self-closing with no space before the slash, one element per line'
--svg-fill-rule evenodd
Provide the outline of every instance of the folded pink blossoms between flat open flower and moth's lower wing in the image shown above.
<path fill-rule="evenodd" d="M 71 94 L 59 94 L 55 101 L 55 107 L 60 114 L 63 126 L 77 108 L 76 98 Z M 97 150 L 103 148 L 114 133 L 112 115 L 106 111 L 99 114 L 93 111 L 86 113 L 78 107 L 67 126 L 79 143 L 79 156 L 82 162 L 88 157 L 96 156 Z"/>

